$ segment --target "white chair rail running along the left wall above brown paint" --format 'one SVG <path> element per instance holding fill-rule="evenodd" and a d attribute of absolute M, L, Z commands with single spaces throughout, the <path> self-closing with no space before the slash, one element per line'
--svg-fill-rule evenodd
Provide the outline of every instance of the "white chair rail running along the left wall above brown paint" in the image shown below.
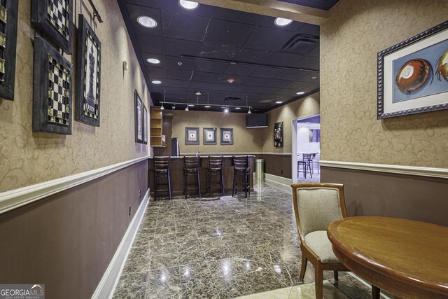
<path fill-rule="evenodd" d="M 148 158 L 151 157 L 146 155 L 141 158 L 90 170 L 89 172 L 74 174 L 73 176 L 65 176 L 61 179 L 45 181 L 36 185 L 0 193 L 0 214 L 25 206 L 25 204 L 30 204 L 31 202 L 42 200 L 45 197 L 62 192 L 69 188 L 73 188 L 80 184 L 87 183 L 88 181 L 106 176 L 107 174 L 111 174 L 112 172 L 129 167 L 135 163 L 147 160 Z"/>

